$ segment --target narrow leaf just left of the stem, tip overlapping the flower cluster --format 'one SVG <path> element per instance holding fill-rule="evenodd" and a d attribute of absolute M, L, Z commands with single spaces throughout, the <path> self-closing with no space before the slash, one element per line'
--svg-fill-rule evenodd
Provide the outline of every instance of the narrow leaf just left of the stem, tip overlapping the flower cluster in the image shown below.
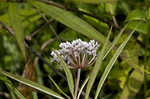
<path fill-rule="evenodd" d="M 68 68 L 66 62 L 62 59 L 62 57 L 57 52 L 55 52 L 55 53 L 57 54 L 57 57 L 59 58 L 60 63 L 63 66 L 63 69 L 64 69 L 66 77 L 67 77 L 69 90 L 72 94 L 72 97 L 74 97 L 74 81 L 73 81 L 72 73 L 71 73 L 70 69 Z"/>

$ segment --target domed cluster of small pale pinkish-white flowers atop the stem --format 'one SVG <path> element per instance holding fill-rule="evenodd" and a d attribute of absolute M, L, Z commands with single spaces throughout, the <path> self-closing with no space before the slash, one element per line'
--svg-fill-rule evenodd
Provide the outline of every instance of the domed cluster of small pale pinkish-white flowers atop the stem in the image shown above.
<path fill-rule="evenodd" d="M 96 51 L 99 44 L 94 40 L 90 42 L 82 41 L 81 39 L 74 40 L 72 42 L 65 42 L 59 45 L 61 49 L 52 51 L 52 61 L 59 62 L 56 55 L 58 53 L 67 62 L 70 68 L 82 68 L 93 64 L 96 59 Z"/>

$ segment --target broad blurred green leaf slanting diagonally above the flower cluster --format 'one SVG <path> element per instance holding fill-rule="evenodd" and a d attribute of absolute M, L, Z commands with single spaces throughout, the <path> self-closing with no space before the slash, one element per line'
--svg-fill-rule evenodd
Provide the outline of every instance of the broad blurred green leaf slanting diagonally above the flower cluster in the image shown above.
<path fill-rule="evenodd" d="M 35 6 L 37 9 L 41 10 L 42 12 L 44 12 L 46 15 L 51 16 L 52 18 L 56 19 L 62 24 L 72 28 L 73 30 L 91 39 L 98 40 L 102 43 L 105 42 L 105 37 L 101 33 L 99 33 L 95 28 L 89 25 L 86 21 L 75 16 L 71 12 L 37 1 L 33 1 L 31 3 L 33 6 Z"/>

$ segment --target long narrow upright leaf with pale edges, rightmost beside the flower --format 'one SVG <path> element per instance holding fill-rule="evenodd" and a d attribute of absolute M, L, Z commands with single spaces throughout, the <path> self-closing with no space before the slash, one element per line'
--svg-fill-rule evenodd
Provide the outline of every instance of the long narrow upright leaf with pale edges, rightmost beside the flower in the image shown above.
<path fill-rule="evenodd" d="M 115 54 L 113 55 L 113 57 L 111 58 L 110 62 L 108 63 L 104 73 L 102 74 L 102 77 L 99 81 L 97 90 L 96 90 L 96 94 L 95 94 L 95 99 L 97 99 L 99 92 L 104 84 L 104 81 L 106 80 L 110 70 L 112 69 L 114 63 L 116 62 L 118 56 L 120 55 L 120 53 L 122 52 L 123 48 L 125 47 L 125 45 L 127 44 L 127 42 L 129 41 L 129 39 L 131 38 L 132 34 L 135 32 L 135 30 L 133 30 L 130 35 L 126 38 L 126 40 L 120 45 L 120 47 L 117 49 L 117 51 L 115 52 Z"/>

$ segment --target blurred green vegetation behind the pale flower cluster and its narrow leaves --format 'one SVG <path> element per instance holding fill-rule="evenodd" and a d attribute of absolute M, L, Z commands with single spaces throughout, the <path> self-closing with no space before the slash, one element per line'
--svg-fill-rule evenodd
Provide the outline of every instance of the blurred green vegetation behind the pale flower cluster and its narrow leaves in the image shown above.
<path fill-rule="evenodd" d="M 115 62 L 98 99 L 150 99 L 149 0 L 0 1 L 1 99 L 16 99 L 16 96 L 24 96 L 26 99 L 55 99 L 18 83 L 15 75 L 62 94 L 54 86 L 52 79 L 49 79 L 53 78 L 63 92 L 71 96 L 65 72 L 59 64 L 51 62 L 51 51 L 58 49 L 61 42 L 78 38 L 84 41 L 94 39 L 102 47 L 111 26 L 108 45 L 112 44 L 120 31 L 125 30 L 101 64 L 89 99 L 93 99 L 99 79 L 116 49 L 129 37 L 132 30 L 135 33 Z M 81 84 L 92 69 L 93 66 L 82 70 Z M 76 71 L 71 71 L 74 77 Z M 37 85 L 34 86 L 37 89 Z M 82 92 L 81 99 L 85 96 L 85 91 L 86 89 Z"/>

